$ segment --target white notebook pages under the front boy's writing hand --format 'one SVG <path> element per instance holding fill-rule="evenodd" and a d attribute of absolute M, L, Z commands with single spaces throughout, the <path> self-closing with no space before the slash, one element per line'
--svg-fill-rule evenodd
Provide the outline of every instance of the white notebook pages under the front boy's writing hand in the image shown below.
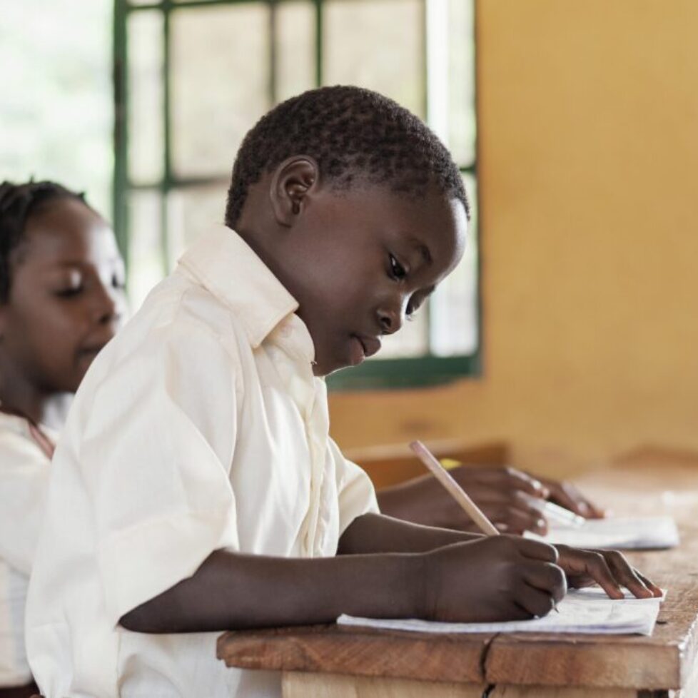
<path fill-rule="evenodd" d="M 664 593 L 664 596 L 666 592 Z M 502 623 L 441 623 L 418 619 L 355 618 L 341 615 L 340 625 L 357 625 L 414 632 L 575 632 L 651 635 L 664 600 L 626 597 L 612 600 L 599 587 L 573 589 L 557 606 L 560 613 L 543 618 Z"/>

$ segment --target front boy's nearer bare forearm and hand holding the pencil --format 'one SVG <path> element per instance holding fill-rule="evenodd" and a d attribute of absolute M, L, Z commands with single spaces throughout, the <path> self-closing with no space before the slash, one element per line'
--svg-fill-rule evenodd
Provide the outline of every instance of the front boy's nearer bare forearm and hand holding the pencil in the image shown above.
<path fill-rule="evenodd" d="M 349 613 L 453 621 L 545 615 L 565 594 L 550 545 L 480 537 L 426 553 L 278 558 L 213 552 L 193 577 L 121 617 L 137 632 L 333 622 Z"/>

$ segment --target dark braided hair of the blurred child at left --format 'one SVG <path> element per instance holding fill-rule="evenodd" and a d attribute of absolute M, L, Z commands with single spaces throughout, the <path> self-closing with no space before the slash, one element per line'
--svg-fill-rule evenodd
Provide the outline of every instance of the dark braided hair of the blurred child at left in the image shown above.
<path fill-rule="evenodd" d="M 10 256 L 24 237 L 26 221 L 44 211 L 51 201 L 74 198 L 91 208 L 82 193 L 51 181 L 0 184 L 0 303 L 9 298 L 11 285 Z"/>

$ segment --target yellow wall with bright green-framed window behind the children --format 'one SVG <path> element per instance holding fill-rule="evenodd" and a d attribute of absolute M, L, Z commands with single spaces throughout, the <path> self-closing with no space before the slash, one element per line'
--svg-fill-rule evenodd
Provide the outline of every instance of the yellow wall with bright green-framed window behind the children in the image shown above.
<path fill-rule="evenodd" d="M 283 98 L 374 88 L 451 148 L 467 256 L 385 358 L 333 378 L 340 445 L 505 442 L 558 475 L 698 449 L 693 0 L 0 8 L 0 176 L 85 190 L 134 308 L 221 221 L 241 138 Z"/>

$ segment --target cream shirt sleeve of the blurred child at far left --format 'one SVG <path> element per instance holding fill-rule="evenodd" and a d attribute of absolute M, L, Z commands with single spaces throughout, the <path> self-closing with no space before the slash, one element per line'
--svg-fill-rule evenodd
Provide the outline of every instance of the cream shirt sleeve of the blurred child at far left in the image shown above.
<path fill-rule="evenodd" d="M 49 459 L 23 435 L 0 433 L 0 557 L 29 576 L 49 485 Z"/>

